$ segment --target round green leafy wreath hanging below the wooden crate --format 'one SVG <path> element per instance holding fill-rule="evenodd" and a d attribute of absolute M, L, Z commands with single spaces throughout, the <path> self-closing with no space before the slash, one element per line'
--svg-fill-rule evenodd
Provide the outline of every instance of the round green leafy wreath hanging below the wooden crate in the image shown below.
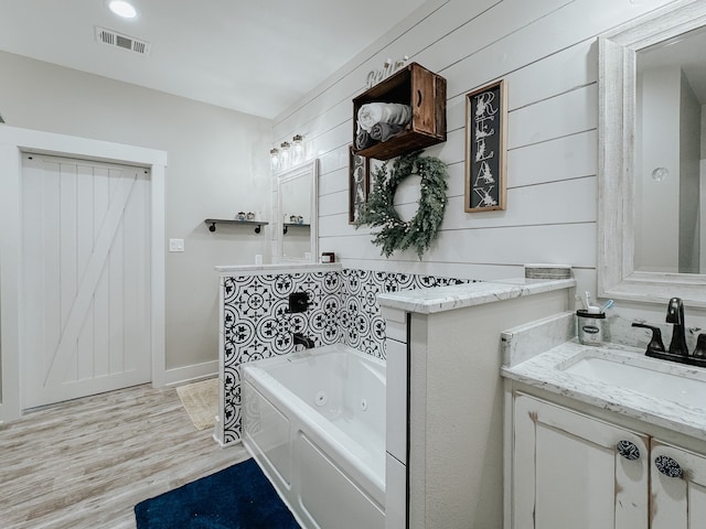
<path fill-rule="evenodd" d="M 406 223 L 395 210 L 395 193 L 402 181 L 413 174 L 421 176 L 421 196 L 417 214 Z M 414 247 L 421 259 L 443 222 L 448 202 L 446 177 L 447 166 L 441 160 L 421 156 L 419 152 L 395 159 L 389 175 L 387 162 L 383 163 L 373 173 L 373 190 L 355 223 L 356 229 L 363 224 L 379 227 L 373 244 L 382 247 L 381 255 L 385 257 Z"/>

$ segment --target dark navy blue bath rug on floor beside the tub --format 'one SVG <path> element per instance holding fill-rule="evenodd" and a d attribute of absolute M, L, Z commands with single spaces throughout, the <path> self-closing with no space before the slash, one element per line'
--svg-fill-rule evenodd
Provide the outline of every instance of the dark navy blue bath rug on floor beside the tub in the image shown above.
<path fill-rule="evenodd" d="M 299 529 L 255 460 L 135 506 L 137 529 Z"/>

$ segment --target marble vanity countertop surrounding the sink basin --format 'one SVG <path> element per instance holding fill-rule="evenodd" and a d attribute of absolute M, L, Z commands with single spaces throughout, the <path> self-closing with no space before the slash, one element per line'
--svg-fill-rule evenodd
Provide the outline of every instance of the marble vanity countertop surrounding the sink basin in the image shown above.
<path fill-rule="evenodd" d="M 644 358 L 644 350 L 635 347 L 610 344 L 608 348 L 627 358 Z M 504 366 L 501 371 L 505 378 L 706 441 L 706 402 L 704 408 L 689 407 L 557 368 L 587 352 L 600 356 L 601 349 L 606 350 L 577 341 L 566 342 L 515 366 Z M 668 361 L 661 367 L 674 373 L 692 370 L 695 378 L 706 379 L 705 369 Z"/>

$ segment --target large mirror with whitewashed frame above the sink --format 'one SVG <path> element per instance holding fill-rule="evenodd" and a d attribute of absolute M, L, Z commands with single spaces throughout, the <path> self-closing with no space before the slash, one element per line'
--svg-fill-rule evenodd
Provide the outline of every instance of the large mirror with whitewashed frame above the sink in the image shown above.
<path fill-rule="evenodd" d="M 678 1 L 599 39 L 601 296 L 706 306 L 705 26 Z"/>

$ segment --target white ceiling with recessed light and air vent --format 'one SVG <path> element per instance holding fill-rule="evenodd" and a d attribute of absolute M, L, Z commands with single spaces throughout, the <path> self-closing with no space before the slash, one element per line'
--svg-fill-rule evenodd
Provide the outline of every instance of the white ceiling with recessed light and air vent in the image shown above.
<path fill-rule="evenodd" d="M 0 0 L 0 50 L 272 118 L 422 3 L 133 0 L 125 20 L 107 0 Z M 96 25 L 149 55 L 98 43 Z"/>

